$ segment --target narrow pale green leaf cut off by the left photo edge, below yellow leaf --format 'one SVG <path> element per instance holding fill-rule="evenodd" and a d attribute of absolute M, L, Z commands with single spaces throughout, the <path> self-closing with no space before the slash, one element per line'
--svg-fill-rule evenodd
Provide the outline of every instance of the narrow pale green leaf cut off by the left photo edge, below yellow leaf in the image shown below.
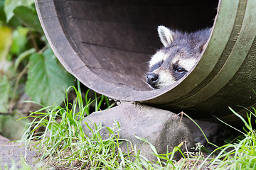
<path fill-rule="evenodd" d="M 0 75 L 0 112 L 8 112 L 9 93 L 11 91 L 11 84 L 5 75 Z"/>

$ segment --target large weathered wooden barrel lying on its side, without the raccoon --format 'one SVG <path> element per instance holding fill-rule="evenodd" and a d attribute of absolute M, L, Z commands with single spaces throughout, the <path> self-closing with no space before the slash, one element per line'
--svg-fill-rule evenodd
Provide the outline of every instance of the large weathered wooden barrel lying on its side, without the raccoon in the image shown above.
<path fill-rule="evenodd" d="M 193 118 L 235 121 L 255 103 L 255 0 L 36 0 L 50 46 L 65 69 L 90 89 Z M 151 90 L 144 74 L 161 47 L 156 28 L 213 26 L 198 64 L 182 79 Z"/>

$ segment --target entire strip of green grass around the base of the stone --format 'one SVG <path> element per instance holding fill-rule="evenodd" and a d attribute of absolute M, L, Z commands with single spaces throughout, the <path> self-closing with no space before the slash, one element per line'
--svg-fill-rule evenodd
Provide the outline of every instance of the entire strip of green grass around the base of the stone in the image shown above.
<path fill-rule="evenodd" d="M 39 159 L 52 166 L 68 169 L 256 169 L 256 135 L 252 128 L 252 120 L 256 115 L 252 111 L 248 111 L 245 120 L 230 108 L 230 111 L 245 124 L 244 132 L 240 131 L 242 138 L 222 147 L 215 146 L 217 149 L 210 154 L 202 152 L 200 144 L 197 145 L 195 152 L 182 153 L 179 147 L 183 143 L 175 147 L 171 153 L 158 154 L 147 140 L 137 137 L 147 142 L 157 157 L 156 162 L 149 162 L 140 154 L 136 145 L 131 144 L 133 149 L 129 153 L 122 152 L 120 143 L 130 142 L 119 139 L 118 122 L 114 128 L 102 125 L 90 127 L 85 122 L 86 116 L 90 114 L 91 104 L 94 103 L 95 111 L 98 111 L 102 103 L 107 102 L 105 96 L 91 100 L 87 98 L 87 92 L 85 100 L 82 100 L 80 86 L 78 89 L 70 87 L 67 91 L 71 89 L 75 90 L 77 96 L 73 103 L 68 103 L 67 95 L 65 107 L 47 106 L 31 113 L 29 117 L 34 120 L 23 135 L 26 146 L 33 144 L 32 146 L 38 150 Z M 107 106 L 110 108 L 110 103 L 107 103 Z M 83 125 L 90 129 L 92 135 L 85 134 L 82 130 Z M 40 128 L 44 131 L 39 130 Z M 102 129 L 110 132 L 107 139 L 100 136 Z M 202 129 L 201 131 L 203 132 Z M 173 159 L 176 152 L 182 155 L 178 161 Z"/>

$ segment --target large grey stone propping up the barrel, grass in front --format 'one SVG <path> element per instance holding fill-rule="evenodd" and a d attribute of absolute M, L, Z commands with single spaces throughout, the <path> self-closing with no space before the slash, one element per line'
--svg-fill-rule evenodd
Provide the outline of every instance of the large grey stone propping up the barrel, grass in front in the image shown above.
<path fill-rule="evenodd" d="M 148 140 L 156 147 L 158 154 L 166 154 L 167 149 L 171 152 L 181 142 L 183 142 L 181 146 L 183 152 L 190 150 L 194 145 L 191 132 L 178 115 L 141 103 L 122 102 L 119 106 L 109 110 L 92 113 L 87 116 L 85 121 L 90 128 L 93 128 L 92 123 L 96 123 L 96 125 L 102 123 L 102 126 L 114 128 L 114 123 L 119 122 L 121 128 L 119 138 L 132 142 L 132 145 L 136 145 L 142 155 L 150 161 L 156 160 L 151 147 L 146 142 L 138 140 L 134 137 L 135 135 Z M 83 129 L 90 136 L 91 132 L 87 126 L 84 126 Z M 110 132 L 105 129 L 100 132 L 100 135 L 107 139 Z M 123 152 L 127 151 L 125 142 L 121 145 L 121 149 Z M 175 159 L 180 156 L 176 154 Z"/>

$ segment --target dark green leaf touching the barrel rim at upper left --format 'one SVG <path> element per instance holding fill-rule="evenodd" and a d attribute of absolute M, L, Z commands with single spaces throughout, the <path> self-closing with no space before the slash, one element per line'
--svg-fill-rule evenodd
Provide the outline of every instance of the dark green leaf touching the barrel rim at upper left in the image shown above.
<path fill-rule="evenodd" d="M 43 33 L 35 8 L 18 6 L 14 9 L 14 14 L 25 26 Z"/>

